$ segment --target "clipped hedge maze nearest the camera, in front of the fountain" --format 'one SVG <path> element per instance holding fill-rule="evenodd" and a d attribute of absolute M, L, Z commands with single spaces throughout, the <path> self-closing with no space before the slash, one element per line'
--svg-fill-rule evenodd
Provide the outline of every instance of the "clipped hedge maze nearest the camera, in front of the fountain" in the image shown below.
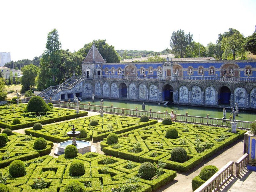
<path fill-rule="evenodd" d="M 114 163 L 103 164 L 105 158 L 110 158 Z M 80 176 L 72 176 L 69 172 L 69 167 L 74 159 L 80 159 L 84 163 L 85 173 Z M 107 157 L 98 153 L 78 154 L 75 158 L 66 159 L 64 155 L 58 158 L 52 156 L 42 156 L 36 159 L 31 159 L 25 162 L 26 175 L 19 178 L 11 178 L 9 176 L 8 167 L 0 169 L 2 175 L 7 178 L 6 185 L 11 191 L 27 192 L 41 191 L 33 189 L 34 179 L 40 178 L 47 183 L 47 187 L 42 191 L 63 191 L 65 184 L 69 181 L 80 181 L 86 186 L 86 191 L 106 191 L 111 192 L 111 189 L 118 188 L 121 184 L 130 183 L 130 178 L 138 175 L 140 163 L 134 163 L 132 169 L 128 169 L 128 161 L 116 157 Z M 103 169 L 105 172 L 103 172 Z M 139 178 L 138 192 L 151 192 L 159 187 L 167 184 L 176 177 L 176 172 L 163 169 L 161 175 L 152 180 Z"/>

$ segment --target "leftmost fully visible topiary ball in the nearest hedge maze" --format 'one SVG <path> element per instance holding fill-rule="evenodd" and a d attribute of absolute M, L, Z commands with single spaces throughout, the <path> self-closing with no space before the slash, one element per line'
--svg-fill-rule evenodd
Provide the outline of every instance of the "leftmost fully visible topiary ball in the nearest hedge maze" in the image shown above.
<path fill-rule="evenodd" d="M 26 174 L 25 163 L 21 160 L 14 160 L 9 166 L 9 173 L 12 177 L 22 177 Z"/>

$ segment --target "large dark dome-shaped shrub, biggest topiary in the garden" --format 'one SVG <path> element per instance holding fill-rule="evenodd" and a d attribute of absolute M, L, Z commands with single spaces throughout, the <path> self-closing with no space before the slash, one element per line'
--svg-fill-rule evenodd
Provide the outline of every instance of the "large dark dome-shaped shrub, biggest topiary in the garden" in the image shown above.
<path fill-rule="evenodd" d="M 39 113 L 47 112 L 51 110 L 51 108 L 45 103 L 45 101 L 39 97 L 34 96 L 30 99 L 30 101 L 27 104 L 25 112 L 35 112 L 38 116 Z"/>

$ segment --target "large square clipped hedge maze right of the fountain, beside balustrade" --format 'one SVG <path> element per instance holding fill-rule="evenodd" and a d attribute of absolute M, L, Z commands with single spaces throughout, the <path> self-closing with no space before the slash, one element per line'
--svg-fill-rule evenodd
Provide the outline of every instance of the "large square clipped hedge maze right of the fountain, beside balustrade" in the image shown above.
<path fill-rule="evenodd" d="M 178 138 L 168 139 L 165 132 L 168 128 L 175 127 Z M 136 162 L 166 163 L 167 169 L 186 172 L 209 156 L 212 156 L 223 147 L 242 138 L 246 131 L 237 130 L 231 133 L 229 129 L 192 125 L 184 123 L 172 123 L 162 125 L 157 123 L 148 127 L 136 129 L 119 134 L 118 144 L 109 145 L 106 139 L 101 142 L 103 152 Z M 132 149 L 139 148 L 133 152 Z M 170 152 L 174 147 L 183 147 L 187 152 L 187 161 L 178 163 L 171 160 Z"/>

